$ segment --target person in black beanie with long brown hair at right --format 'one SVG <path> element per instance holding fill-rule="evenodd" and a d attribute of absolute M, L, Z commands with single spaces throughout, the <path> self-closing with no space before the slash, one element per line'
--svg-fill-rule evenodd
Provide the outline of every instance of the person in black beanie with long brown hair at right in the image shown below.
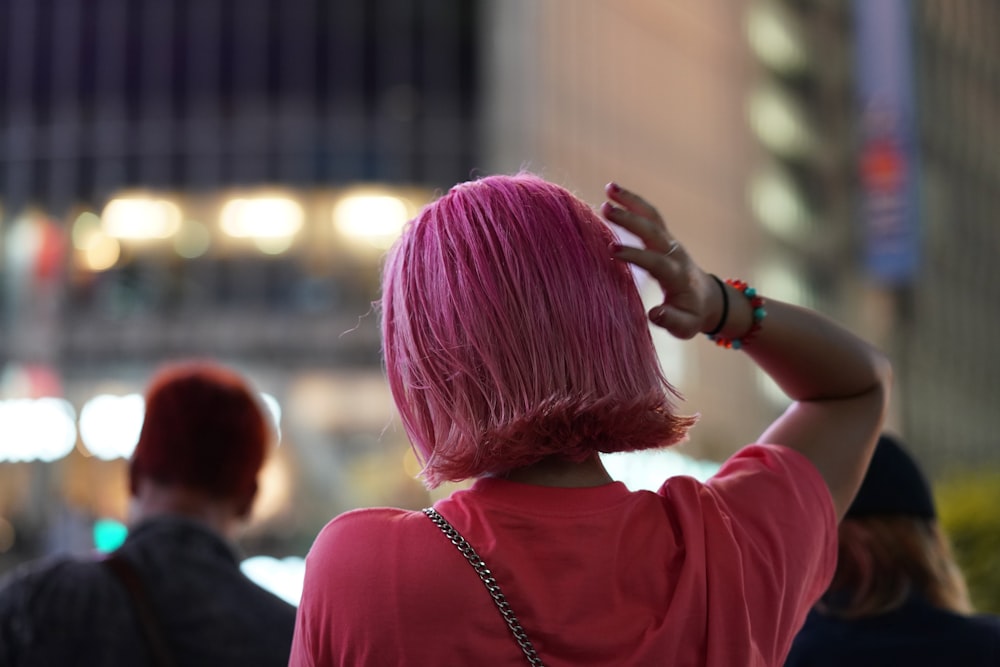
<path fill-rule="evenodd" d="M 1000 619 L 973 614 L 917 462 L 883 435 L 840 524 L 837 570 L 786 667 L 996 667 Z"/>

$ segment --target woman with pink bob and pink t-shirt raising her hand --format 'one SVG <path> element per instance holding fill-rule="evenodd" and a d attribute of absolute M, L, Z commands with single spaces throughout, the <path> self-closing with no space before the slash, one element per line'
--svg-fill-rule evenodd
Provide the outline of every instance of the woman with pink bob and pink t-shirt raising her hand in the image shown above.
<path fill-rule="evenodd" d="M 832 575 L 889 364 L 822 316 L 705 272 L 652 206 L 606 192 L 601 214 L 642 247 L 519 174 L 456 185 L 389 253 L 382 335 L 403 425 L 428 486 L 474 482 L 423 512 L 331 521 L 307 559 L 291 665 L 783 661 Z M 630 264 L 663 288 L 648 318 Z M 711 480 L 657 493 L 612 480 L 599 456 L 694 424 L 650 321 L 739 350 L 792 399 Z"/>

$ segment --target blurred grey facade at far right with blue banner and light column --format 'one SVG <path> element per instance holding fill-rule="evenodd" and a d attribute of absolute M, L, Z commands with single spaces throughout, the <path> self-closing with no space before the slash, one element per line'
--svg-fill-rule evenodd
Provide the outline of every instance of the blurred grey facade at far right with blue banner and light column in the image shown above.
<path fill-rule="evenodd" d="M 751 172 L 751 209 L 799 264 L 806 302 L 891 353 L 890 428 L 937 477 L 1000 461 L 997 26 L 1000 7 L 978 0 L 748 5 L 761 71 L 789 94 L 789 126 L 815 138 L 775 145 L 751 117 L 791 165 L 772 207 L 776 181 Z"/>

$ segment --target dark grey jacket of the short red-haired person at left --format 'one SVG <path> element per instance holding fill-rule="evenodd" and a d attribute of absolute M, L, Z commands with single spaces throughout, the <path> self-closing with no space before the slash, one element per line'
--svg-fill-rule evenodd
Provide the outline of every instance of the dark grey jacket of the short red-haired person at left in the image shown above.
<path fill-rule="evenodd" d="M 119 552 L 138 571 L 183 667 L 285 667 L 295 607 L 239 569 L 233 547 L 179 517 L 136 527 Z M 151 664 L 124 587 L 94 558 L 49 558 L 0 582 L 0 667 Z"/>

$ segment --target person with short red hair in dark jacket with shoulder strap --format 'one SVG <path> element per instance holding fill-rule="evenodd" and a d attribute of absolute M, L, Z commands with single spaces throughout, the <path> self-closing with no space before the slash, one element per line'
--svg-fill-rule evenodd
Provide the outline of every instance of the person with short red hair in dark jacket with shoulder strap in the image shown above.
<path fill-rule="evenodd" d="M 243 575 L 231 542 L 274 433 L 232 370 L 164 368 L 130 462 L 127 539 L 0 583 L 0 666 L 286 665 L 295 608 Z"/>

